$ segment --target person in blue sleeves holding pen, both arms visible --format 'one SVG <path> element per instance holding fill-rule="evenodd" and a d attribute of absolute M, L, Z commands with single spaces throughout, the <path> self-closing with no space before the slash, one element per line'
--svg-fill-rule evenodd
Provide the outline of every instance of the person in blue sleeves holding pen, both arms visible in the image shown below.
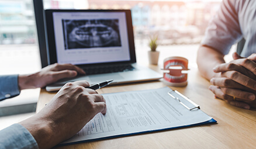
<path fill-rule="evenodd" d="M 75 65 L 53 64 L 32 75 L 0 76 L 0 101 L 78 73 L 85 74 Z M 105 99 L 87 86 L 87 81 L 65 84 L 39 113 L 1 130 L 0 148 L 51 148 L 74 136 L 97 113 L 105 114 Z"/>

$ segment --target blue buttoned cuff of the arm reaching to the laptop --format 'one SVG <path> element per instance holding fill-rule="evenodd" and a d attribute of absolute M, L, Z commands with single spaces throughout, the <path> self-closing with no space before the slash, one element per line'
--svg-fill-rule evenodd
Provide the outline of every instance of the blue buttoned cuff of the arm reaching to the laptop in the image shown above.
<path fill-rule="evenodd" d="M 0 101 L 18 96 L 18 75 L 0 75 Z"/>

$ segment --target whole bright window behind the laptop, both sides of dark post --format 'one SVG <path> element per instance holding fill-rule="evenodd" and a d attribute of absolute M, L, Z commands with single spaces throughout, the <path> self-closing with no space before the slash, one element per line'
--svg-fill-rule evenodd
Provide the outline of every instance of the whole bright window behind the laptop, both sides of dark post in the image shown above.
<path fill-rule="evenodd" d="M 148 34 L 153 33 L 159 34 L 162 46 L 199 44 L 209 19 L 215 15 L 220 3 L 220 0 L 42 1 L 44 9 L 131 9 L 136 46 L 147 46 Z M 0 68 L 5 70 L 0 71 L 0 75 L 27 74 L 41 68 L 32 2 L 0 1 Z M 188 34 L 192 40 L 186 40 Z"/>

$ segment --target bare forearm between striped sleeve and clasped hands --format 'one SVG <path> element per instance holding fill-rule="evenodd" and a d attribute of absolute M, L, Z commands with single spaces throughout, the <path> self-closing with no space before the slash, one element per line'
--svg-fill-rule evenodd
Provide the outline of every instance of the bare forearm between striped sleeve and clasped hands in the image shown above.
<path fill-rule="evenodd" d="M 219 64 L 225 63 L 224 55 L 213 48 L 200 46 L 196 63 L 198 64 L 200 74 L 210 80 L 211 78 L 219 75 L 213 72 L 213 68 Z"/>

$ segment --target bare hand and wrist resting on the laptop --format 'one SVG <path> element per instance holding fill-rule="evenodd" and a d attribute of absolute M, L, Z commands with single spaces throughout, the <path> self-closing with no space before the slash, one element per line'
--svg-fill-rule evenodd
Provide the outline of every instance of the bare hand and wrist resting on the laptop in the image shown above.
<path fill-rule="evenodd" d="M 72 64 L 52 64 L 31 75 L 19 75 L 19 88 L 43 88 L 63 78 L 72 78 L 85 72 Z"/>

